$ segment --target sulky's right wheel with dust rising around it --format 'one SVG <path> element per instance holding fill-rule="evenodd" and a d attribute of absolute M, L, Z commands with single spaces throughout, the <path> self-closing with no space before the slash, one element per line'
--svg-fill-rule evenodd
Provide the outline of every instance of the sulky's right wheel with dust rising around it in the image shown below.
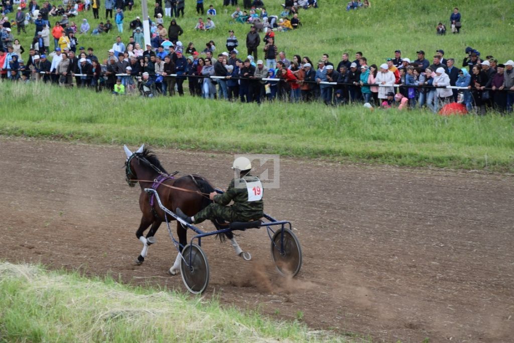
<path fill-rule="evenodd" d="M 291 230 L 284 228 L 273 234 L 271 257 L 282 276 L 296 276 L 302 266 L 302 248 Z"/>

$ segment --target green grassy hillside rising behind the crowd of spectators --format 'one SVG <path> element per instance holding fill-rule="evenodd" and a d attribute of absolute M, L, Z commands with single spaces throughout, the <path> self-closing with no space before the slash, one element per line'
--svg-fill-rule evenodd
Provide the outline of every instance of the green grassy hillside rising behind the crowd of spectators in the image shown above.
<path fill-rule="evenodd" d="M 136 16 L 141 16 L 141 6 L 138 1 L 133 11 L 125 12 L 125 24 L 122 38 L 128 41 L 130 32 L 128 23 Z M 184 30 L 180 41 L 187 45 L 195 43 L 197 50 L 205 48 L 205 43 L 211 39 L 216 43 L 216 51 L 225 50 L 227 31 L 233 29 L 240 44 L 244 47 L 249 25 L 231 23 L 232 6 L 223 7 L 221 0 L 205 2 L 207 10 L 214 5 L 218 15 L 213 17 L 216 29 L 212 32 L 197 32 L 193 28 L 198 20 L 195 2 L 186 2 L 186 16 L 177 20 Z M 240 1 L 240 5 L 242 2 Z M 282 1 L 264 1 L 269 14 L 280 15 Z M 153 2 L 149 2 L 149 15 L 153 17 Z M 465 57 L 464 49 L 472 46 L 482 52 L 483 56 L 493 55 L 502 63 L 512 59 L 512 41 L 514 35 L 514 6 L 502 0 L 492 0 L 478 3 L 471 0 L 461 0 L 457 3 L 446 0 L 430 1 L 396 1 L 379 0 L 371 2 L 370 9 L 346 11 L 345 1 L 319 1 L 318 9 L 300 11 L 303 26 L 295 31 L 277 32 L 277 45 L 286 51 L 290 57 L 295 53 L 309 56 L 312 60 L 319 59 L 322 53 L 328 53 L 332 61 L 339 60 L 342 52 L 350 53 L 353 57 L 357 51 L 364 52 L 369 64 L 379 64 L 386 57 L 392 57 L 393 51 L 402 50 L 402 56 L 415 58 L 419 49 L 427 51 L 427 57 L 436 49 L 444 49 L 445 57 Z M 458 6 L 462 14 L 461 34 L 451 33 L 444 37 L 435 34 L 438 22 L 449 24 L 450 14 L 454 6 Z M 105 10 L 100 9 L 100 19 L 105 20 Z M 10 14 L 14 17 L 14 14 Z M 204 19 L 207 15 L 204 15 Z M 86 18 L 91 28 L 96 27 L 99 20 L 93 20 L 91 11 L 80 12 L 74 20 L 80 27 Z M 55 19 L 51 20 L 52 25 Z M 164 26 L 168 27 L 171 19 L 164 18 Z M 449 30 L 449 25 L 448 31 Z M 16 30 L 13 29 L 13 32 Z M 19 37 L 26 50 L 30 46 L 34 26 L 27 28 L 27 35 Z M 99 58 L 107 56 L 107 50 L 112 47 L 117 35 L 116 28 L 100 36 L 78 35 L 79 45 L 86 48 L 91 46 L 97 51 Z M 15 35 L 16 37 L 16 35 Z M 50 46 L 53 46 L 51 44 Z M 246 48 L 240 49 L 241 55 L 246 56 Z M 24 54 L 27 55 L 27 52 Z"/>

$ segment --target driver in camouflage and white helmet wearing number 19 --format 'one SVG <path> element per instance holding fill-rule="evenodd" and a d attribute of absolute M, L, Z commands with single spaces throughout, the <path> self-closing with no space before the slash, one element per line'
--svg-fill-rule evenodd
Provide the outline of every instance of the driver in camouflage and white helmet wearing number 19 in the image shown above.
<path fill-rule="evenodd" d="M 193 216 L 188 216 L 178 207 L 176 214 L 189 224 L 214 219 L 223 219 L 229 223 L 259 220 L 264 215 L 264 189 L 259 177 L 250 175 L 251 168 L 248 158 L 236 158 L 232 169 L 239 171 L 240 177 L 232 179 L 225 193 L 211 192 L 209 197 L 213 203 Z M 232 206 L 227 206 L 231 201 L 234 202 Z"/>

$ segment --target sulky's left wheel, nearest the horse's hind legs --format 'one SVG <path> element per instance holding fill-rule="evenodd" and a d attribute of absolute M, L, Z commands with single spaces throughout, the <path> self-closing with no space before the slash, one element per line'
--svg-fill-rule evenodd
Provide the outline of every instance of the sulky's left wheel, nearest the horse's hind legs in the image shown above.
<path fill-rule="evenodd" d="M 182 250 L 180 261 L 182 281 L 193 294 L 201 294 L 209 284 L 209 263 L 204 251 L 196 244 L 188 244 Z"/>

